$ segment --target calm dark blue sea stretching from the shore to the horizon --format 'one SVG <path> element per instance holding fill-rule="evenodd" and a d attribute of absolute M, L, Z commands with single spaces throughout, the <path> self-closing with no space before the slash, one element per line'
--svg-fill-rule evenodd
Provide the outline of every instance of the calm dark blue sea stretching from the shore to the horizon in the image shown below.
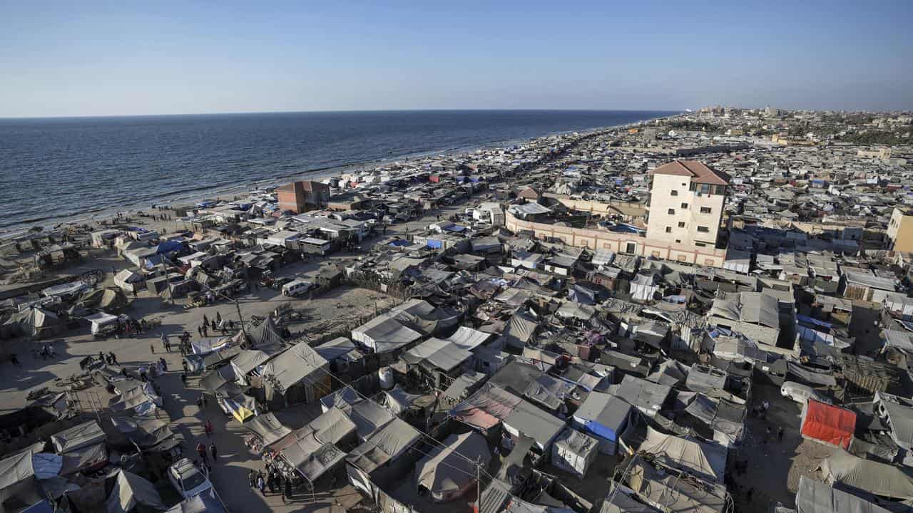
<path fill-rule="evenodd" d="M 669 114 L 419 110 L 0 119 L 0 231 Z"/>

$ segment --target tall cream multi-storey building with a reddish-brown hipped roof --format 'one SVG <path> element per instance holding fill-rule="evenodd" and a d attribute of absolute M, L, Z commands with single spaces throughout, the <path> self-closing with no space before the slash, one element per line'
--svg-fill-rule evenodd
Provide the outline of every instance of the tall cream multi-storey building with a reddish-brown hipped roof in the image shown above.
<path fill-rule="evenodd" d="M 714 247 L 729 176 L 698 161 L 667 162 L 653 172 L 646 238 L 670 245 Z"/>

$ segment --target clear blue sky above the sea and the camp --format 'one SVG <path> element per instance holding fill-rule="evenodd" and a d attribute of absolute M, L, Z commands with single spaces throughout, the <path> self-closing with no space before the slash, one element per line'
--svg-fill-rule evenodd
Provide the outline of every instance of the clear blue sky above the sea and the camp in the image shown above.
<path fill-rule="evenodd" d="M 913 109 L 913 2 L 734 4 L 5 0 L 0 116 Z"/>

